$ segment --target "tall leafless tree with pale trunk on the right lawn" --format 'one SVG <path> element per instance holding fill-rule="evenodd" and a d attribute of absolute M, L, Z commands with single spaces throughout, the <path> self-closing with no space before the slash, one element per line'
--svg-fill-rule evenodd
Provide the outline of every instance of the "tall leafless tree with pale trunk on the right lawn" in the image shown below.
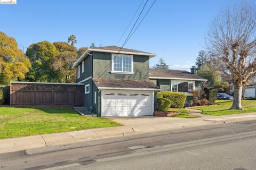
<path fill-rule="evenodd" d="M 242 87 L 256 71 L 256 8 L 242 2 L 227 7 L 210 25 L 206 46 L 212 61 L 234 84 L 231 109 L 241 106 Z"/>

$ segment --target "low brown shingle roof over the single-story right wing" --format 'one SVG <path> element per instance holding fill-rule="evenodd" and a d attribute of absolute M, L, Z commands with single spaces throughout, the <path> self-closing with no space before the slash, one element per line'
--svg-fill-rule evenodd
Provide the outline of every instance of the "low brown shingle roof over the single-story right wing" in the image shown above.
<path fill-rule="evenodd" d="M 175 78 L 175 79 L 203 79 L 199 75 L 190 73 L 185 70 L 161 70 L 161 69 L 149 69 L 149 77 L 157 78 Z"/>

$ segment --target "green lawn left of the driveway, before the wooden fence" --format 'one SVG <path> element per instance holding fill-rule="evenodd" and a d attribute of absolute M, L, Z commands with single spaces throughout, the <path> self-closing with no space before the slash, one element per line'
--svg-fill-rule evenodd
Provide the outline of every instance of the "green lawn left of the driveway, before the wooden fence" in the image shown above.
<path fill-rule="evenodd" d="M 0 107 L 0 139 L 121 125 L 68 108 Z"/>

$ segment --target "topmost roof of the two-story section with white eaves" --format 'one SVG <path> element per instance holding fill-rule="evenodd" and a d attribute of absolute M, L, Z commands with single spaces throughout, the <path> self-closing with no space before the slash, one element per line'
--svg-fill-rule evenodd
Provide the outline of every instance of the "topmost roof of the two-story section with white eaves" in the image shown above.
<path fill-rule="evenodd" d="M 84 54 L 78 58 L 78 60 L 74 63 L 73 68 L 76 67 L 79 63 L 81 63 L 85 57 L 90 55 L 90 52 L 103 52 L 103 53 L 118 53 L 119 54 L 130 54 L 130 55 L 144 55 L 144 56 L 149 56 L 154 57 L 156 56 L 153 53 L 146 53 L 146 52 L 141 52 L 139 50 L 134 50 L 134 49 L 129 49 L 129 48 L 122 48 L 117 47 L 117 46 L 105 46 L 105 47 L 94 47 L 94 48 L 88 48 Z"/>

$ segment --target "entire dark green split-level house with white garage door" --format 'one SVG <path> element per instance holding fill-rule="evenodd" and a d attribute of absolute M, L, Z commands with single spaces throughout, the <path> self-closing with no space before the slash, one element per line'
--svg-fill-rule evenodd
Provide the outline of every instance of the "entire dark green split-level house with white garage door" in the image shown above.
<path fill-rule="evenodd" d="M 186 71 L 149 69 L 155 54 L 116 46 L 89 48 L 74 63 L 84 84 L 84 106 L 98 116 L 150 116 L 157 91 L 203 88 L 203 78 Z"/>

